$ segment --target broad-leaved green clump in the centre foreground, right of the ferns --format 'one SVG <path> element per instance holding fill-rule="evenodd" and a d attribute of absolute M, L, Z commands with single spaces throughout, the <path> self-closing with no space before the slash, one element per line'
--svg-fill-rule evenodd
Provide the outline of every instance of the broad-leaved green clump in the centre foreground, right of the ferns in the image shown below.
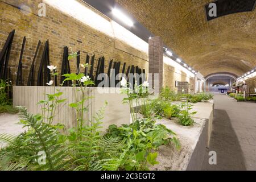
<path fill-rule="evenodd" d="M 126 152 L 125 170 L 148 170 L 148 167 L 158 164 L 158 148 L 163 144 L 175 144 L 179 150 L 180 143 L 176 134 L 164 125 L 155 125 L 151 119 L 137 120 L 131 125 L 109 126 L 108 137 L 122 138 L 130 143 Z"/>

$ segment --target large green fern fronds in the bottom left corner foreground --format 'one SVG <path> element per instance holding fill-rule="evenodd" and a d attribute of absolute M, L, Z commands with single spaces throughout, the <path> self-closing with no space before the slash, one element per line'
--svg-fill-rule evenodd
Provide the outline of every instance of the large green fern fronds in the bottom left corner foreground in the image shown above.
<path fill-rule="evenodd" d="M 24 107 L 19 107 L 20 123 L 28 128 L 27 132 L 18 137 L 1 135 L 0 140 L 8 142 L 3 151 L 1 161 L 6 167 L 26 168 L 35 170 L 64 169 L 68 150 L 64 143 L 58 143 L 59 131 L 43 122 L 41 115 L 32 115 Z M 40 155 L 45 162 L 40 163 Z"/>

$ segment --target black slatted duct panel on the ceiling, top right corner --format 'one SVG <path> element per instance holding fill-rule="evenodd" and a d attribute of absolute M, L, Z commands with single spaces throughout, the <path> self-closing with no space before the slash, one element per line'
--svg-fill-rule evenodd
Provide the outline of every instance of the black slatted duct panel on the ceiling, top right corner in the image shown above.
<path fill-rule="evenodd" d="M 220 16 L 225 16 L 233 13 L 241 13 L 247 11 L 253 11 L 255 9 L 256 0 L 217 0 L 211 3 L 215 3 L 217 7 L 217 16 L 210 16 L 209 11 L 213 9 L 210 3 L 205 5 L 207 20 L 212 20 Z"/>

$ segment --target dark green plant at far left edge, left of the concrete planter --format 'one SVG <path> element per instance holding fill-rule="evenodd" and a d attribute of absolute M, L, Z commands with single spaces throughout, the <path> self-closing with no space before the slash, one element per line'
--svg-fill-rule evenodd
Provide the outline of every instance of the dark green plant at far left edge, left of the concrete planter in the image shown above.
<path fill-rule="evenodd" d="M 0 113 L 16 114 L 18 110 L 12 106 L 11 101 L 7 97 L 6 89 L 8 86 L 11 86 L 9 82 L 4 80 L 0 81 Z"/>

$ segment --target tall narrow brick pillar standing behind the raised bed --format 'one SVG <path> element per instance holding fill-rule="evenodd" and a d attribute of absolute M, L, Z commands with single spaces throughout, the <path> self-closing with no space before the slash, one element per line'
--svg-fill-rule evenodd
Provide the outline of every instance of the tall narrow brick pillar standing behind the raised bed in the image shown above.
<path fill-rule="evenodd" d="M 160 36 L 148 41 L 148 67 L 148 80 L 155 94 L 159 94 L 163 88 L 163 40 Z"/>

